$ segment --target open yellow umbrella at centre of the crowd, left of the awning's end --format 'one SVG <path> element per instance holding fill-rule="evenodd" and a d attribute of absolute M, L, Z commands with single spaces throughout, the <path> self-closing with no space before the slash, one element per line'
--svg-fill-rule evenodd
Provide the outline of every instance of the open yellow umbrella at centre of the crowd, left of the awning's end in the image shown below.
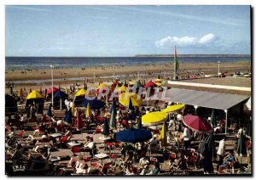
<path fill-rule="evenodd" d="M 142 98 L 137 96 L 137 93 L 121 93 L 119 95 L 119 103 L 125 107 L 128 107 L 130 98 L 133 106 L 140 106 L 143 102 Z"/>

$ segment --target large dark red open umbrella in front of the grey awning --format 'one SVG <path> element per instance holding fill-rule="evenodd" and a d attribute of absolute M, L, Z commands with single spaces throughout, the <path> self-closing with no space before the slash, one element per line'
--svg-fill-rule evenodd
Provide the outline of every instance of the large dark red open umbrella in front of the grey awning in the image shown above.
<path fill-rule="evenodd" d="M 184 115 L 183 123 L 197 132 L 212 132 L 212 125 L 197 115 Z"/>

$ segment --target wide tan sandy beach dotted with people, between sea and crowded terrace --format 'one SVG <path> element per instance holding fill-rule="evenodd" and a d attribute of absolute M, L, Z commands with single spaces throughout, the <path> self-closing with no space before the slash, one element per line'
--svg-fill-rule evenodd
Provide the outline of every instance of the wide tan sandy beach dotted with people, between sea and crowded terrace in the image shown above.
<path fill-rule="evenodd" d="M 220 66 L 221 72 L 232 74 L 236 71 L 248 72 L 251 69 L 249 62 L 224 62 Z M 166 70 L 166 73 L 165 73 Z M 218 65 L 213 63 L 180 63 L 178 75 L 188 76 L 194 74 L 209 75 L 217 74 Z M 95 78 L 94 78 L 95 76 Z M 88 79 L 90 85 L 92 82 L 112 82 L 113 77 L 119 77 L 120 80 L 136 80 L 138 78 L 145 81 L 155 79 L 158 76 L 168 78 L 173 76 L 173 65 L 170 64 L 148 64 L 148 65 L 115 65 L 102 66 L 101 68 L 72 68 L 55 69 L 54 86 L 69 87 L 70 84 L 79 83 L 84 86 L 84 79 Z M 6 70 L 6 82 L 15 82 L 15 90 L 20 87 L 40 88 L 51 85 L 51 70 Z M 232 80 L 227 80 L 228 83 Z M 208 82 L 207 82 L 208 83 Z M 210 82 L 209 82 L 210 83 Z M 96 83 L 97 84 L 97 83 Z M 232 84 L 232 83 L 231 83 Z"/>

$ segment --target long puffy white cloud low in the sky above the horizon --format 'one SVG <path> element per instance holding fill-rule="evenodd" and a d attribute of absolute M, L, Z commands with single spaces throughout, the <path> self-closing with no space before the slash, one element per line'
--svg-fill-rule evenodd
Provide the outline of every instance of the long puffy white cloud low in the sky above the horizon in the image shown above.
<path fill-rule="evenodd" d="M 207 46 L 214 43 L 218 43 L 218 37 L 212 33 L 209 33 L 203 37 L 164 37 L 154 42 L 157 48 L 168 48 L 170 46 L 178 47 L 198 47 Z"/>

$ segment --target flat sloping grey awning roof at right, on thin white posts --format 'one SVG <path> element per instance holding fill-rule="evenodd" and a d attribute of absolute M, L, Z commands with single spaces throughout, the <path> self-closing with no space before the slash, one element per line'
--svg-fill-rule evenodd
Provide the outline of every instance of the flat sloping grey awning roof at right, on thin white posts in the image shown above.
<path fill-rule="evenodd" d="M 245 95 L 195 91 L 180 88 L 167 89 L 166 95 L 161 97 L 162 94 L 163 93 L 158 93 L 157 97 L 150 97 L 150 99 L 166 100 L 218 110 L 229 110 L 236 104 L 240 104 L 250 98 Z"/>

